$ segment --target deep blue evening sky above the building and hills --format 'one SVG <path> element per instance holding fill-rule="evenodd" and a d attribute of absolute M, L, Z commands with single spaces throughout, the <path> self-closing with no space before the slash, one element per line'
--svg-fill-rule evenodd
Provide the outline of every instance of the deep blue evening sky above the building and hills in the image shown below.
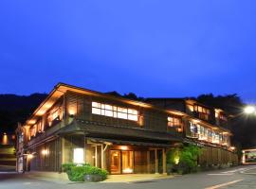
<path fill-rule="evenodd" d="M 101 92 L 256 102 L 255 0 L 2 0 L 0 93 Z"/>

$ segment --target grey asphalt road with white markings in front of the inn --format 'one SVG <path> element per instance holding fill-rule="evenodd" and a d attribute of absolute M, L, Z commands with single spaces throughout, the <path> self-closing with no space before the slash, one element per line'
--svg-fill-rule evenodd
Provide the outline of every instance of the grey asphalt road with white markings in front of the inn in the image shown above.
<path fill-rule="evenodd" d="M 215 189 L 256 188 L 256 165 L 175 177 L 168 180 L 152 180 L 130 183 L 71 183 L 62 180 L 32 179 L 28 175 L 0 174 L 0 189 Z M 254 171 L 255 169 L 255 171 Z M 244 173 L 243 173 L 244 172 Z"/>

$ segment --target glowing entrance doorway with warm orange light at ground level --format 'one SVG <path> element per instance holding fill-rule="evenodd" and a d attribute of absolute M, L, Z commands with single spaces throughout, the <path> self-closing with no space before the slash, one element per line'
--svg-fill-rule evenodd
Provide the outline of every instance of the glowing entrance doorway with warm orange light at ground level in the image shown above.
<path fill-rule="evenodd" d="M 134 151 L 110 150 L 111 174 L 134 173 Z"/>

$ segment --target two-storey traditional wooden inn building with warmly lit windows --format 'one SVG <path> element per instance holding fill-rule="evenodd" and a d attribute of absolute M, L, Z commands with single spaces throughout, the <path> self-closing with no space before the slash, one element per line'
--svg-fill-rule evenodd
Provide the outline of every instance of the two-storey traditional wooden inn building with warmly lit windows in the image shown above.
<path fill-rule="evenodd" d="M 237 163 L 229 116 L 191 99 L 145 102 L 59 83 L 17 133 L 18 171 L 90 163 L 110 174 L 166 173 L 166 153 L 191 143 L 199 163 Z"/>

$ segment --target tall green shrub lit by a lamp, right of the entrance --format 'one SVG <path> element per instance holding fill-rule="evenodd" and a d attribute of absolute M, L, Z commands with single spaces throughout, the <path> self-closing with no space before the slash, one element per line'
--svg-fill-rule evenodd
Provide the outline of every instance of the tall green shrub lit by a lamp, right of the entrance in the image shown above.
<path fill-rule="evenodd" d="M 201 154 L 198 146 L 185 145 L 168 152 L 168 173 L 188 174 L 198 170 L 197 159 Z"/>

